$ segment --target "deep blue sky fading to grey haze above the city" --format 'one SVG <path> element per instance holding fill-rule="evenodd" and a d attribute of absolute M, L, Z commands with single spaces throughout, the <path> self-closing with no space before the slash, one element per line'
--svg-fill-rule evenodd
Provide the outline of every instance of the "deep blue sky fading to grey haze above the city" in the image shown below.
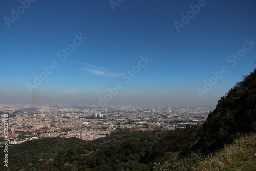
<path fill-rule="evenodd" d="M 100 96 L 106 105 L 214 106 L 255 68 L 256 45 L 241 51 L 245 39 L 256 42 L 255 1 L 21 2 L 0 3 L 0 103 L 98 105 Z M 190 6 L 200 11 L 178 32 Z M 227 60 L 238 52 L 236 63 Z M 127 82 L 140 56 L 152 60 Z M 58 67 L 36 86 L 52 61 Z M 228 72 L 205 90 L 222 66 Z"/>

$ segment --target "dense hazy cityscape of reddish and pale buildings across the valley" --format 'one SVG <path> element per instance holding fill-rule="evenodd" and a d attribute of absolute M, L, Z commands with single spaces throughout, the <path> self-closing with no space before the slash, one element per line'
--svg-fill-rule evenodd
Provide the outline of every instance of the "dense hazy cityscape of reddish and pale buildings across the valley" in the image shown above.
<path fill-rule="evenodd" d="M 1 104 L 1 118 L 8 113 L 8 138 L 18 144 L 42 137 L 76 137 L 94 140 L 112 131 L 131 129 L 175 130 L 203 123 L 213 107 L 170 106 L 71 106 Z M 4 137 L 4 119 L 0 136 Z"/>

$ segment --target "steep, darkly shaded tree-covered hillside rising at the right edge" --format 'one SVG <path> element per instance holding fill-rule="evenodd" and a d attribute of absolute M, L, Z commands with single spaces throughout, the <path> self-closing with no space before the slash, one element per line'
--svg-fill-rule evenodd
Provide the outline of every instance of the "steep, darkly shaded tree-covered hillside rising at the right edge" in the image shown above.
<path fill-rule="evenodd" d="M 221 97 L 203 126 L 204 136 L 195 149 L 204 154 L 256 130 L 256 70 Z"/>

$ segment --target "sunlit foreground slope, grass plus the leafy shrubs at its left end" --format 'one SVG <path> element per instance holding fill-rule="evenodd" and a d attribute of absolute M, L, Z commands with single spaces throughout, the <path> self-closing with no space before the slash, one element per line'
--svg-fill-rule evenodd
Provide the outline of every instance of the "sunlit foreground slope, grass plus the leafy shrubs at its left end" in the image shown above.
<path fill-rule="evenodd" d="M 256 134 L 242 136 L 231 145 L 225 145 L 215 154 L 204 157 L 192 153 L 188 157 L 176 157 L 172 161 L 154 163 L 153 171 L 212 171 L 212 170 L 247 170 L 256 168 Z"/>

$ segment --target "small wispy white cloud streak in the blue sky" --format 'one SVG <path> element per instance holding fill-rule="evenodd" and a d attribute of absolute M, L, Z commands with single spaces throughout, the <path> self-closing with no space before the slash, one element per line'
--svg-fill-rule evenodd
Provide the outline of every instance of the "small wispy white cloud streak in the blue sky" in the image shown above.
<path fill-rule="evenodd" d="M 108 71 L 102 67 L 96 67 L 91 65 L 90 63 L 84 63 L 83 66 L 84 71 L 88 71 L 94 75 L 102 76 L 102 77 L 118 77 L 121 76 L 119 73 L 113 73 L 111 71 Z"/>

